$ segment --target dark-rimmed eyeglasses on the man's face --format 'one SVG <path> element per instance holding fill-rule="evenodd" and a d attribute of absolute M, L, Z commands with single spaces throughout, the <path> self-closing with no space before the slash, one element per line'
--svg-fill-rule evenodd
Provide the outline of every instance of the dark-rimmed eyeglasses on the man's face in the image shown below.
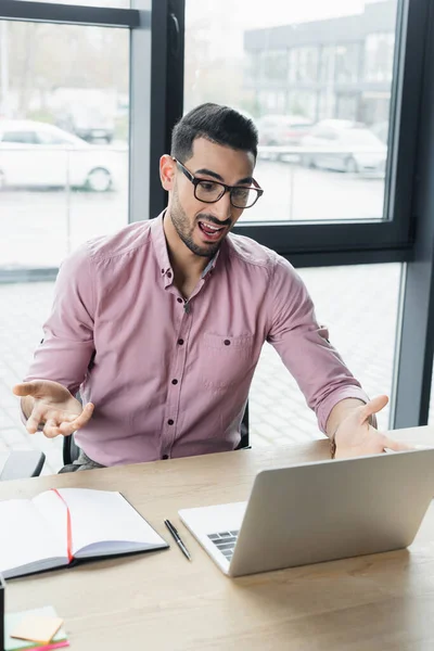
<path fill-rule="evenodd" d="M 226 192 L 229 192 L 230 202 L 234 208 L 251 208 L 255 205 L 259 196 L 264 194 L 264 190 L 258 186 L 255 179 L 252 179 L 254 188 L 245 188 L 244 186 L 227 186 L 219 181 L 210 181 L 208 179 L 196 178 L 187 169 L 182 163 L 174 158 L 179 165 L 181 171 L 187 176 L 189 181 L 194 186 L 194 196 L 203 203 L 216 203 Z"/>

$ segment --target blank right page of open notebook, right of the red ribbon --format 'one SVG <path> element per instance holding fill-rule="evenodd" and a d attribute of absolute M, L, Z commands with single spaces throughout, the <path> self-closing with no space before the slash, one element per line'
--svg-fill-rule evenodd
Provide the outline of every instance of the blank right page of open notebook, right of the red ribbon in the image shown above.
<path fill-rule="evenodd" d="M 104 542 L 137 542 L 144 549 L 166 546 L 163 538 L 117 492 L 60 488 L 59 493 L 69 508 L 74 556 L 90 545 Z M 51 496 L 38 496 L 39 509 L 49 514 L 53 497 L 62 505 L 62 500 L 52 492 Z M 108 548 L 111 553 L 116 553 L 116 545 L 110 545 Z M 118 551 L 123 550 L 124 547 L 119 545 Z"/>

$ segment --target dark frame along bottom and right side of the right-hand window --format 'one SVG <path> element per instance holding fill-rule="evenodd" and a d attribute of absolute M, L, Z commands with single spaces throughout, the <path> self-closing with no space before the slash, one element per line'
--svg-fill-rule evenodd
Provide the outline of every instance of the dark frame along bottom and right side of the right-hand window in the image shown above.
<path fill-rule="evenodd" d="M 174 0 L 184 11 L 186 0 Z M 188 0 L 187 0 L 188 1 Z M 391 89 L 390 155 L 383 218 L 239 222 L 234 232 L 273 248 L 296 266 L 405 261 L 414 242 L 413 169 L 429 0 L 398 0 Z M 182 92 L 183 99 L 183 92 Z M 179 102 L 179 98 L 178 98 Z"/>

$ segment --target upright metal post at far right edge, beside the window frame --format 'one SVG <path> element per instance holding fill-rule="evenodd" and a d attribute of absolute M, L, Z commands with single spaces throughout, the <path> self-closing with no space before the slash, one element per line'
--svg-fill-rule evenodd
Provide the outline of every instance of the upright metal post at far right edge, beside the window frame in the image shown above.
<path fill-rule="evenodd" d="M 392 394 L 392 426 L 397 429 L 426 424 L 434 355 L 434 8 L 430 2 L 423 2 L 427 14 L 419 35 L 425 44 L 424 93 L 416 168 L 416 242 L 403 280 Z"/>

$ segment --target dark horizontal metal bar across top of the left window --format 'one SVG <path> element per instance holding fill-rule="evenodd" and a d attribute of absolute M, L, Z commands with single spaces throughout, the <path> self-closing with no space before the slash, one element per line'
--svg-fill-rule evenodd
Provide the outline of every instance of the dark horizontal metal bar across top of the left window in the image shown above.
<path fill-rule="evenodd" d="M 151 13 L 133 9 L 108 9 L 105 7 L 80 7 L 26 0 L 1 0 L 0 20 L 31 21 L 42 23 L 68 23 L 71 25 L 101 25 L 107 27 L 149 27 Z"/>

